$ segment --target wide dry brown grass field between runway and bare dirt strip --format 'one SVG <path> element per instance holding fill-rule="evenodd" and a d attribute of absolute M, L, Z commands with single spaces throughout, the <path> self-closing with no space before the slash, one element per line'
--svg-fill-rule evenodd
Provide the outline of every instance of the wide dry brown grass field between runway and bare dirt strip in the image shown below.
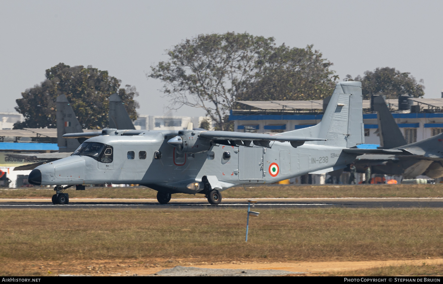
<path fill-rule="evenodd" d="M 443 256 L 441 209 L 260 212 L 250 220 L 249 241 L 245 243 L 245 210 L 1 210 L 0 274 L 16 275 L 17 267 L 23 275 L 40 273 L 19 263 L 48 261 L 65 263 L 52 269 L 70 272 L 70 262 L 92 260 L 136 259 L 152 264 L 155 259 L 179 265 Z M 82 269 L 88 272 L 85 266 Z"/>

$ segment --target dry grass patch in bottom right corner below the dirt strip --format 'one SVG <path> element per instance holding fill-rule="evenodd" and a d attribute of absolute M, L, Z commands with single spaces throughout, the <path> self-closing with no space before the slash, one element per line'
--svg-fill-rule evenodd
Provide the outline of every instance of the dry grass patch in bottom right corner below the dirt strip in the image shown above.
<path fill-rule="evenodd" d="M 316 276 L 436 276 L 443 274 L 443 265 L 383 266 L 346 272 L 324 272 Z"/>

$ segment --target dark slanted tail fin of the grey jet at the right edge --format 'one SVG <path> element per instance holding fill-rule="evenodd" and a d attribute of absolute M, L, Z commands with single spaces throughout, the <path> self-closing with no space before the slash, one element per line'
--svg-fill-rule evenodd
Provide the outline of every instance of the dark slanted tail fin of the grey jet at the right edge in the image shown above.
<path fill-rule="evenodd" d="M 373 96 L 374 111 L 377 111 L 380 148 L 391 149 L 406 144 L 400 128 L 395 122 L 383 96 Z"/>

